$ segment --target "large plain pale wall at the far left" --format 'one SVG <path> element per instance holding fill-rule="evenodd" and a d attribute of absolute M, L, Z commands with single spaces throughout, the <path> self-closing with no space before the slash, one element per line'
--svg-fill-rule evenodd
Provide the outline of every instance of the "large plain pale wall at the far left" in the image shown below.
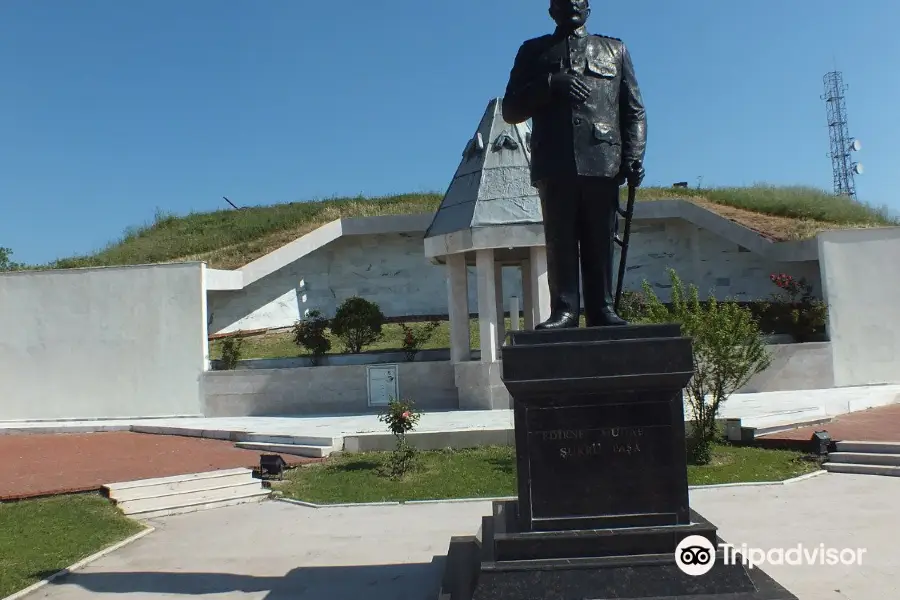
<path fill-rule="evenodd" d="M 0 273 L 0 420 L 198 415 L 202 263 Z"/>

